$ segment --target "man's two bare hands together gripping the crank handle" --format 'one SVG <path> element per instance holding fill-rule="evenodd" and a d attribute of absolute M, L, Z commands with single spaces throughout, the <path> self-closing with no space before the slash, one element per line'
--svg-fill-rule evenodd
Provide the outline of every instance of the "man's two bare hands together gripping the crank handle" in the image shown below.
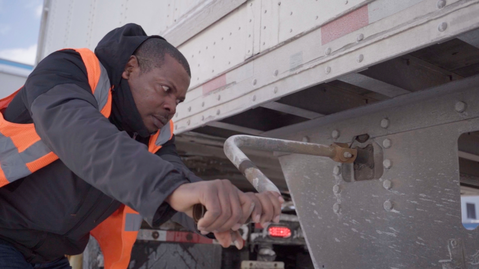
<path fill-rule="evenodd" d="M 250 217 L 263 228 L 271 221 L 278 223 L 284 199 L 271 191 L 243 193 L 228 180 L 215 180 L 183 184 L 165 201 L 190 217 L 195 204 L 204 205 L 207 211 L 198 221 L 198 230 L 202 234 L 214 233 L 222 246 L 228 247 L 234 242 L 241 249 L 243 239 L 238 229 Z"/>

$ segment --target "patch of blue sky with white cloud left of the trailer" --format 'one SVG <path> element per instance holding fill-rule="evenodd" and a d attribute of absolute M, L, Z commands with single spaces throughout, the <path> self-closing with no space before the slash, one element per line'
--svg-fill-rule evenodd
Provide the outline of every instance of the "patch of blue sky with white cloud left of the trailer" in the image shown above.
<path fill-rule="evenodd" d="M 0 58 L 34 64 L 43 0 L 0 0 Z"/>

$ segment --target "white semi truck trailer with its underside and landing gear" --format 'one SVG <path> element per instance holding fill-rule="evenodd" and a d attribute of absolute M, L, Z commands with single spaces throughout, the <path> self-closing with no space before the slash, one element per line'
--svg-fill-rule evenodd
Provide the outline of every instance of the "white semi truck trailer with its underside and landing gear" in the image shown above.
<path fill-rule="evenodd" d="M 130 268 L 479 268 L 478 0 L 45 0 L 37 61 L 131 22 L 190 64 L 182 160 L 287 203 L 242 251 L 144 224 Z"/>

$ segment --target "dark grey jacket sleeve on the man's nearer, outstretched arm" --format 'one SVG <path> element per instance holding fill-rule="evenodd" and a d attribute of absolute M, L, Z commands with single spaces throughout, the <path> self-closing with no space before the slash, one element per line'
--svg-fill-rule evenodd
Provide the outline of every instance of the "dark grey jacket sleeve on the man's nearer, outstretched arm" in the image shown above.
<path fill-rule="evenodd" d="M 50 74 L 55 70 L 40 64 L 37 68 L 55 77 Z M 81 72 L 71 68 L 70 73 Z M 28 78 L 30 82 L 35 76 Z M 162 214 L 174 214 L 164 199 L 187 178 L 172 163 L 119 131 L 98 111 L 91 90 L 71 80 L 34 97 L 29 93 L 35 92 L 36 85 L 26 83 L 30 89 L 23 100 L 42 141 L 73 173 L 138 211 L 150 225 Z"/>

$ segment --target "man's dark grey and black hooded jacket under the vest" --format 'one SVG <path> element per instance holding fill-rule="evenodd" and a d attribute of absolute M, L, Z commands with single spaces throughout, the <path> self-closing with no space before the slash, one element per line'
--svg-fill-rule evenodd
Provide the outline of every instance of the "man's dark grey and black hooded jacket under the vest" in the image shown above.
<path fill-rule="evenodd" d="M 201 179 L 181 162 L 174 137 L 156 154 L 148 151 L 150 134 L 121 77 L 129 57 L 148 38 L 161 37 L 127 24 L 109 32 L 95 49 L 114 86 L 108 119 L 98 111 L 85 65 L 72 50 L 42 60 L 4 111 L 7 121 L 34 123 L 59 157 L 0 188 L 0 239 L 28 262 L 82 253 L 90 231 L 122 203 L 154 227 L 174 215 L 196 230 L 191 218 L 164 199 L 179 185 Z"/>

